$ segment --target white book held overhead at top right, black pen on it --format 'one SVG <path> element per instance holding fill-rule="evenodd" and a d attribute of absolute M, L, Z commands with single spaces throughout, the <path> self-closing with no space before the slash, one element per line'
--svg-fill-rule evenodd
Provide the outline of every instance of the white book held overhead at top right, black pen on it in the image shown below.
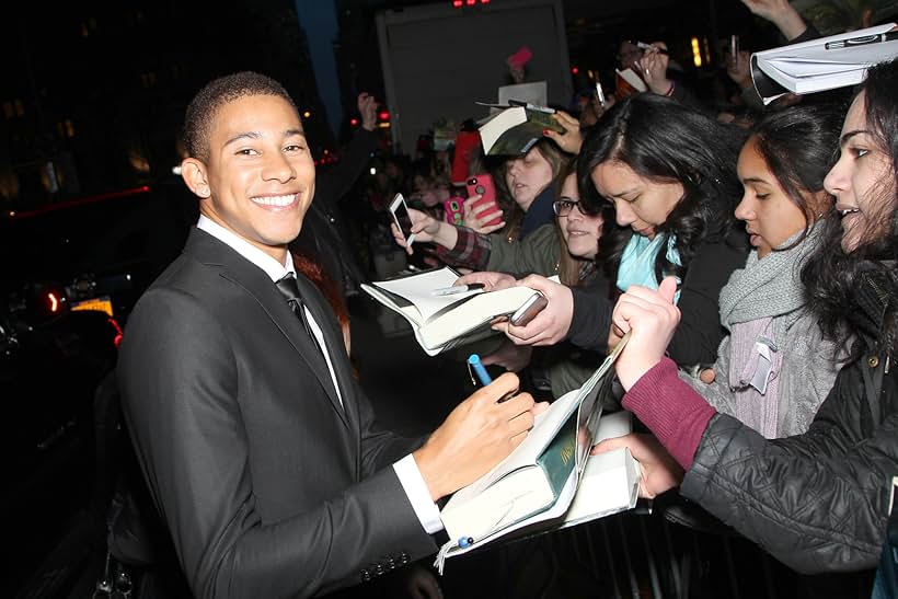
<path fill-rule="evenodd" d="M 855 85 L 868 67 L 898 56 L 895 23 L 887 23 L 751 55 L 755 89 L 770 103 L 780 95 Z"/>

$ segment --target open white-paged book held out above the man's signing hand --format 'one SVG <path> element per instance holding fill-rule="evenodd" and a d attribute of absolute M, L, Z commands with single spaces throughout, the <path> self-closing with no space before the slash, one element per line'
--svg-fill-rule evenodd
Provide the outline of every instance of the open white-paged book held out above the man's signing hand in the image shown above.
<path fill-rule="evenodd" d="M 445 266 L 391 280 L 361 284 L 380 303 L 402 315 L 418 345 L 429 356 L 496 334 L 491 324 L 514 314 L 534 295 L 529 287 L 497 291 L 475 289 L 462 293 L 435 295 L 452 287 L 459 274 Z"/>

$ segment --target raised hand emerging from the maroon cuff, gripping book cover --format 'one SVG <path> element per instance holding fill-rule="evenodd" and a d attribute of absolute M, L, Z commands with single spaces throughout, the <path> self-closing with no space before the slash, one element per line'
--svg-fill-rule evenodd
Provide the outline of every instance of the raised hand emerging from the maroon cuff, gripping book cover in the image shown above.
<path fill-rule="evenodd" d="M 674 306 L 677 279 L 666 277 L 658 290 L 631 285 L 618 299 L 611 322 L 630 341 L 614 362 L 614 370 L 626 391 L 643 375 L 661 361 L 674 331 L 680 322 L 680 311 Z"/>

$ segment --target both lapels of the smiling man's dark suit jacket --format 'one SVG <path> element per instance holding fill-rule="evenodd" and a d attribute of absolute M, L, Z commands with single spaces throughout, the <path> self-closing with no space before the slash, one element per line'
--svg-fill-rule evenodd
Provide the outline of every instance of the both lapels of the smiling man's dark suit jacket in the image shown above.
<path fill-rule="evenodd" d="M 284 297 L 277 290 L 277 287 L 272 279 L 268 278 L 265 272 L 241 256 L 228 244 L 198 229 L 194 229 L 191 232 L 184 251 L 185 253 L 193 254 L 194 257 L 204 264 L 220 266 L 221 277 L 243 288 L 246 293 L 258 302 L 258 304 L 272 319 L 274 324 L 292 344 L 300 358 L 309 366 L 309 369 L 312 371 L 322 389 L 324 389 L 327 399 L 334 406 L 334 411 L 337 413 L 343 424 L 348 426 L 349 423 L 346 416 L 346 411 L 341 405 L 339 398 L 336 395 L 334 383 L 331 379 L 331 372 L 327 369 L 327 364 L 324 361 L 324 356 L 322 356 L 321 352 L 318 350 L 318 347 L 315 347 L 312 339 L 306 333 L 306 329 L 302 326 L 301 321 L 296 314 L 293 314 L 292 310 L 290 310 L 290 307 L 284 300 Z M 303 293 L 303 299 L 307 297 L 316 298 L 316 293 L 309 289 L 310 284 L 304 281 L 303 277 L 298 278 L 302 281 L 300 283 L 300 291 Z M 309 301 L 307 300 L 307 304 L 308 303 Z M 315 301 L 315 303 L 318 303 L 318 301 Z M 322 312 L 320 309 L 313 311 L 312 313 L 315 316 L 315 322 L 318 322 L 324 333 L 325 345 L 332 346 L 334 341 L 331 338 L 333 335 L 327 334 L 329 330 L 331 330 L 329 321 L 321 315 Z M 343 344 L 343 341 L 341 339 L 339 343 Z M 341 387 L 343 389 L 349 387 L 345 382 L 347 379 L 345 379 L 345 377 L 342 376 L 341 370 L 337 369 L 337 364 L 341 360 L 334 359 L 333 350 L 330 352 L 330 355 L 331 361 L 334 364 L 335 371 L 337 373 L 337 380 L 341 381 Z M 343 395 L 345 398 L 347 393 L 344 391 Z"/>

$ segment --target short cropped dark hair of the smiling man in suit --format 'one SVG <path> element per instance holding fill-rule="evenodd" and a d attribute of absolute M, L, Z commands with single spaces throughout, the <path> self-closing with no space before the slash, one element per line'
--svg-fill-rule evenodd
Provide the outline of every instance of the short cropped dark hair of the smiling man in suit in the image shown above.
<path fill-rule="evenodd" d="M 299 114 L 284 85 L 264 74 L 242 71 L 214 79 L 187 105 L 184 117 L 184 146 L 187 155 L 206 161 L 209 158 L 209 127 L 218 110 L 241 97 L 275 95 L 286 100 Z"/>

